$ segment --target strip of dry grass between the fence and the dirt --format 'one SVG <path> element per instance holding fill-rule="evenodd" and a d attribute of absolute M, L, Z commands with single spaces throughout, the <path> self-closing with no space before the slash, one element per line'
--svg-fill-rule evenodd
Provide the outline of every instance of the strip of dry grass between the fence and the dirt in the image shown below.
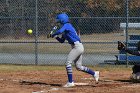
<path fill-rule="evenodd" d="M 125 65 L 104 65 L 104 66 L 88 66 L 91 69 L 99 71 L 130 71 L 131 67 Z M 73 66 L 73 69 L 75 67 Z M 35 66 L 35 65 L 0 65 L 0 73 L 3 72 L 19 72 L 19 71 L 55 71 L 65 70 L 65 66 Z"/>

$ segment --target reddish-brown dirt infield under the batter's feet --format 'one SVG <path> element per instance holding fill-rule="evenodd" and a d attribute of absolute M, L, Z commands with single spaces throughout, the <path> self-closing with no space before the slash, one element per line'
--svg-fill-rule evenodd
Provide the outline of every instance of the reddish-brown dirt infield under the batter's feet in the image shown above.
<path fill-rule="evenodd" d="M 74 81 L 77 84 L 73 88 L 62 87 L 67 81 L 64 67 L 59 70 L 6 69 L 7 67 L 3 67 L 0 71 L 0 93 L 139 93 L 140 91 L 140 84 L 129 80 L 131 69 L 97 68 L 100 70 L 98 84 L 95 84 L 92 76 L 73 69 Z"/>

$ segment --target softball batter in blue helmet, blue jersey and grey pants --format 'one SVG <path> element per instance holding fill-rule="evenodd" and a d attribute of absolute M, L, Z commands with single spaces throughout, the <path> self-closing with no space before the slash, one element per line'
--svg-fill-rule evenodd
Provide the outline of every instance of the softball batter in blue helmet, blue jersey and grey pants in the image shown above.
<path fill-rule="evenodd" d="M 82 65 L 82 54 L 84 53 L 84 47 L 79 36 L 76 33 L 75 28 L 69 22 L 68 15 L 65 13 L 59 14 L 56 17 L 56 21 L 60 23 L 62 27 L 54 34 L 52 34 L 52 38 L 55 37 L 60 43 L 64 43 L 64 41 L 67 40 L 72 47 L 66 59 L 68 82 L 63 87 L 75 86 L 72 76 L 72 62 L 75 63 L 77 70 L 91 74 L 95 78 L 95 81 L 98 82 L 99 71 L 93 71 L 88 67 Z M 62 34 L 61 38 L 57 37 L 57 35 L 59 34 Z"/>

